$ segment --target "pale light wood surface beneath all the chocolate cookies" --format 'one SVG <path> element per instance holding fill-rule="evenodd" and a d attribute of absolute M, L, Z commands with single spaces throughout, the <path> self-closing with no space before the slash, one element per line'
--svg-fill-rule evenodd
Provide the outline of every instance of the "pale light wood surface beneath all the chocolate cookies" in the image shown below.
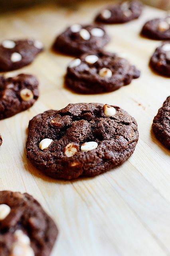
<path fill-rule="evenodd" d="M 160 42 L 138 35 L 146 20 L 165 12 L 147 7 L 138 20 L 106 26 L 112 39 L 105 49 L 126 56 L 141 70 L 139 79 L 115 92 L 80 95 L 66 90 L 63 75 L 72 58 L 50 50 L 67 25 L 91 22 L 104 4 L 91 1 L 74 10 L 41 6 L 0 16 L 0 40 L 34 37 L 46 48 L 30 66 L 7 74 L 36 75 L 40 98 L 29 110 L 0 121 L 0 190 L 32 194 L 53 217 L 59 237 L 51 256 L 168 256 L 170 152 L 156 140 L 151 125 L 170 95 L 170 79 L 148 68 Z M 28 122 L 45 110 L 77 102 L 115 104 L 127 110 L 138 122 L 136 150 L 123 165 L 95 178 L 48 178 L 26 158 Z"/>

